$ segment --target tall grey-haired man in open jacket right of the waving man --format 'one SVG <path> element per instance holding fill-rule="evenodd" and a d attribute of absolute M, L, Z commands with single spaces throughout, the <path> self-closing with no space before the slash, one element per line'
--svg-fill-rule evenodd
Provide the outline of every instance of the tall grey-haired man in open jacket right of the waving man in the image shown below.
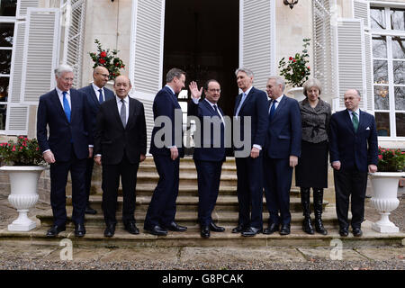
<path fill-rule="evenodd" d="M 267 129 L 267 97 L 264 91 L 253 86 L 253 73 L 247 68 L 238 68 L 235 72 L 239 89 L 235 103 L 234 116 L 240 123 L 238 131 L 243 146 L 235 143 L 235 157 L 238 175 L 238 226 L 232 233 L 242 236 L 255 236 L 263 229 L 263 152 Z M 245 131 L 245 122 L 247 131 Z M 245 139 L 245 134 L 247 138 Z M 235 135 L 234 135 L 235 139 Z M 248 147 L 247 146 L 248 143 Z M 250 151 L 240 156 L 241 150 Z"/>

